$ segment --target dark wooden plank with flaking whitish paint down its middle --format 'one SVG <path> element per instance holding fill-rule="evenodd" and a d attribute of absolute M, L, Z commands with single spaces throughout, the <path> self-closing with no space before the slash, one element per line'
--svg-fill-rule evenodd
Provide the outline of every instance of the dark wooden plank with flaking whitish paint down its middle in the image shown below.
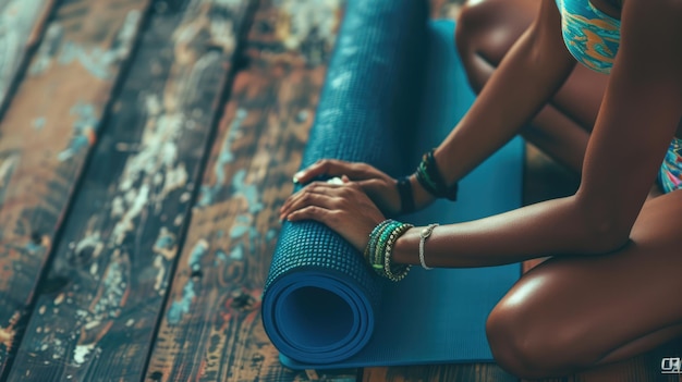
<path fill-rule="evenodd" d="M 143 379 L 248 4 L 155 3 L 11 380 Z"/>

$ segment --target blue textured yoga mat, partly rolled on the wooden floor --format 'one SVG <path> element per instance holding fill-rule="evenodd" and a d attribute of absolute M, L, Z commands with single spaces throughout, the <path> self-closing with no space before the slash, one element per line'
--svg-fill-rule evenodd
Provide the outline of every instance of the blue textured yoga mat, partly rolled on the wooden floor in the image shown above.
<path fill-rule="evenodd" d="M 423 1 L 350 0 L 302 167 L 318 159 L 412 172 L 474 95 L 451 22 L 427 23 Z M 512 140 L 439 200 L 403 221 L 456 222 L 520 206 L 522 143 Z M 392 283 L 316 222 L 284 223 L 263 297 L 264 326 L 294 369 L 490 361 L 485 320 L 519 264 L 413 268 Z"/>

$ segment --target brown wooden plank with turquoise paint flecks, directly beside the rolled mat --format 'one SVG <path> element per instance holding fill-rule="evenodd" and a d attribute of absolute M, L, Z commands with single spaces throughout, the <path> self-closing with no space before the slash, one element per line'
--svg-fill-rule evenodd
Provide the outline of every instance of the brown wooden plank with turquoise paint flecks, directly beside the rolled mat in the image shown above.
<path fill-rule="evenodd" d="M 292 192 L 333 44 L 318 45 L 317 53 L 302 46 L 317 40 L 308 34 L 333 38 L 337 23 L 326 19 L 340 17 L 341 4 L 260 2 L 251 65 L 234 82 L 211 149 L 147 379 L 355 381 L 355 370 L 308 375 L 283 368 L 260 321 L 277 209 Z M 297 24 L 318 16 L 317 28 Z"/>

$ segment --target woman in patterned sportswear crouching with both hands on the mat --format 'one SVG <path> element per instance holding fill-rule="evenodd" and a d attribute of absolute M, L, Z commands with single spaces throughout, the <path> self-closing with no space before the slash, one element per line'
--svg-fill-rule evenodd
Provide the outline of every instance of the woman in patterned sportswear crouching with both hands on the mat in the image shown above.
<path fill-rule="evenodd" d="M 480 94 L 415 174 L 397 181 L 367 164 L 320 161 L 297 181 L 327 174 L 343 184 L 310 183 L 281 217 L 327 224 L 395 280 L 405 264 L 551 256 L 488 318 L 496 360 L 520 377 L 571 373 L 682 335 L 682 2 L 490 0 L 465 9 L 458 27 Z M 516 134 L 579 171 L 579 190 L 426 230 L 386 222 L 454 198 L 456 182 Z"/>

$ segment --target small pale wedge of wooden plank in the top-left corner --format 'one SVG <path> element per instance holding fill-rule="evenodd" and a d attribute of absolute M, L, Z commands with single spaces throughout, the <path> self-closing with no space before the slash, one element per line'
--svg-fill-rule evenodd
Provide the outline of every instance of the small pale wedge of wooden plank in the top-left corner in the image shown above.
<path fill-rule="evenodd" d="M 53 0 L 0 1 L 0 115 L 53 4 Z"/>

